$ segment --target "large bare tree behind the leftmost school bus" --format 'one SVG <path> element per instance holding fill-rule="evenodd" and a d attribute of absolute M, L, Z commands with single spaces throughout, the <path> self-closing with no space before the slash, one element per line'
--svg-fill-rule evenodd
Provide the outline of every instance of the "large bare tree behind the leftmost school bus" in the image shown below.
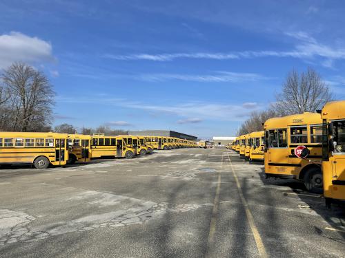
<path fill-rule="evenodd" d="M 3 86 L 8 91 L 8 129 L 42 131 L 50 125 L 55 92 L 48 78 L 26 65 L 14 63 L 3 71 Z"/>

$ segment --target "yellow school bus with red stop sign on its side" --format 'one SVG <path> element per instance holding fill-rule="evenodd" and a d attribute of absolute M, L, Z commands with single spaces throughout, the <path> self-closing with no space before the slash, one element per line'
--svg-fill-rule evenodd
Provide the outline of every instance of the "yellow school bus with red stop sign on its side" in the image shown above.
<path fill-rule="evenodd" d="M 306 189 L 322 193 L 322 120 L 317 113 L 270 118 L 264 124 L 266 178 L 302 180 Z M 306 158 L 295 155 L 306 147 Z M 298 150 L 297 150 L 298 151 Z M 297 153 L 298 154 L 298 153 Z"/>

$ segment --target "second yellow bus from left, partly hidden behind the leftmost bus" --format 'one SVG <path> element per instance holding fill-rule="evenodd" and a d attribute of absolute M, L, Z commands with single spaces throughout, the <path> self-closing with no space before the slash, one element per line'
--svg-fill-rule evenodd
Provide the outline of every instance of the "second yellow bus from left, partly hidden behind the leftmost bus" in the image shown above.
<path fill-rule="evenodd" d="M 91 136 L 68 134 L 68 164 L 90 162 L 91 158 Z"/>

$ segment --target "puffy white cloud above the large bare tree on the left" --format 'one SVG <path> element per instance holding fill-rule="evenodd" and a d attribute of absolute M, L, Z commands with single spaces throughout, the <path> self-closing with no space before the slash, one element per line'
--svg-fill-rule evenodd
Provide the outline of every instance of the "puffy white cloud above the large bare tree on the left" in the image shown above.
<path fill-rule="evenodd" d="M 45 63 L 54 60 L 52 45 L 47 41 L 20 32 L 0 35 L 0 68 L 16 61 Z"/>

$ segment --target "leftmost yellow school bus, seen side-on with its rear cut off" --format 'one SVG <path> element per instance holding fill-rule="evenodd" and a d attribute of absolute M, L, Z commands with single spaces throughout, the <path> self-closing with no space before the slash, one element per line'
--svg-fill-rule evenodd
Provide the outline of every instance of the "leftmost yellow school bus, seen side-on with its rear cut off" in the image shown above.
<path fill-rule="evenodd" d="M 0 133 L 0 164 L 34 164 L 37 169 L 65 165 L 66 133 Z"/>

